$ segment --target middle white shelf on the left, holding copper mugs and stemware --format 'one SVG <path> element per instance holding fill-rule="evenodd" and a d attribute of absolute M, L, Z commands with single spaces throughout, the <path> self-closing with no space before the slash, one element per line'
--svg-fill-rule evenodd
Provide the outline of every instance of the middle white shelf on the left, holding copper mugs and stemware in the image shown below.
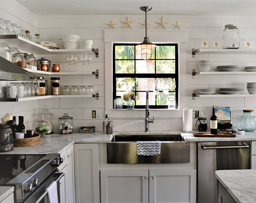
<path fill-rule="evenodd" d="M 32 70 L 28 68 L 23 68 L 23 69 L 35 75 L 95 75 L 96 79 L 99 78 L 98 69 L 92 72 L 48 72 L 48 71 L 41 71 L 41 70 Z"/>

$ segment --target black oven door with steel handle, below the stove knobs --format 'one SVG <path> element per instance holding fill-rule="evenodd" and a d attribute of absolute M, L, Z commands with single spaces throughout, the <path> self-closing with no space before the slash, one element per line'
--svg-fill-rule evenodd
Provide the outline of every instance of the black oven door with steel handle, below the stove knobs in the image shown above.
<path fill-rule="evenodd" d="M 44 198 L 48 195 L 46 189 L 53 182 L 57 182 L 58 200 L 60 203 L 60 179 L 64 173 L 54 173 L 40 188 L 38 188 L 24 203 L 45 203 Z"/>

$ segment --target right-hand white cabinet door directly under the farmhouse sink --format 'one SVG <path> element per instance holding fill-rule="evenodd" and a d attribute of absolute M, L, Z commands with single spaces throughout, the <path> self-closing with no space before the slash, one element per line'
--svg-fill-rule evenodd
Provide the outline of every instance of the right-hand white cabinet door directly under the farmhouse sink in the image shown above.
<path fill-rule="evenodd" d="M 149 203 L 196 203 L 196 170 L 150 170 Z"/>

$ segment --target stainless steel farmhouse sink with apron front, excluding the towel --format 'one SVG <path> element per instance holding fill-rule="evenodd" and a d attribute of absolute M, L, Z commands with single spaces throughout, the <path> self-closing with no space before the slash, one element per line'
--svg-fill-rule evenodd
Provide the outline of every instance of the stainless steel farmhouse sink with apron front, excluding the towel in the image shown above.
<path fill-rule="evenodd" d="M 136 141 L 161 141 L 157 156 L 139 156 Z M 188 163 L 190 144 L 180 135 L 115 135 L 107 143 L 107 163 Z"/>

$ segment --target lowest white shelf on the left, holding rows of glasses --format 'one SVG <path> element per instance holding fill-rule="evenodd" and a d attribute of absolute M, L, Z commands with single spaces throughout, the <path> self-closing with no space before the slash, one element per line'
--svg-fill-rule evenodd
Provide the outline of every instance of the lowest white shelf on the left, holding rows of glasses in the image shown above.
<path fill-rule="evenodd" d="M 0 98 L 0 101 L 33 101 L 33 100 L 43 100 L 50 98 L 95 98 L 99 100 L 99 93 L 96 91 L 94 95 L 45 95 L 45 96 L 33 96 L 27 98 Z"/>

